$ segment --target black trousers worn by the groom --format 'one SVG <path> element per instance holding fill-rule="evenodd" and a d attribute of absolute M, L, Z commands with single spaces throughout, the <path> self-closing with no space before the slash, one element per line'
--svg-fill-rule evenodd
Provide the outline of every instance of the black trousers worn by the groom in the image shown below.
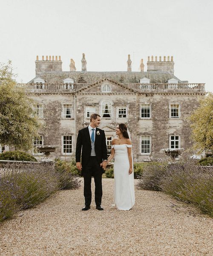
<path fill-rule="evenodd" d="M 101 205 L 102 198 L 102 168 L 96 157 L 90 157 L 89 163 L 83 168 L 83 195 L 85 198 L 85 205 L 90 205 L 92 201 L 91 181 L 94 177 L 95 181 L 95 204 Z"/>

